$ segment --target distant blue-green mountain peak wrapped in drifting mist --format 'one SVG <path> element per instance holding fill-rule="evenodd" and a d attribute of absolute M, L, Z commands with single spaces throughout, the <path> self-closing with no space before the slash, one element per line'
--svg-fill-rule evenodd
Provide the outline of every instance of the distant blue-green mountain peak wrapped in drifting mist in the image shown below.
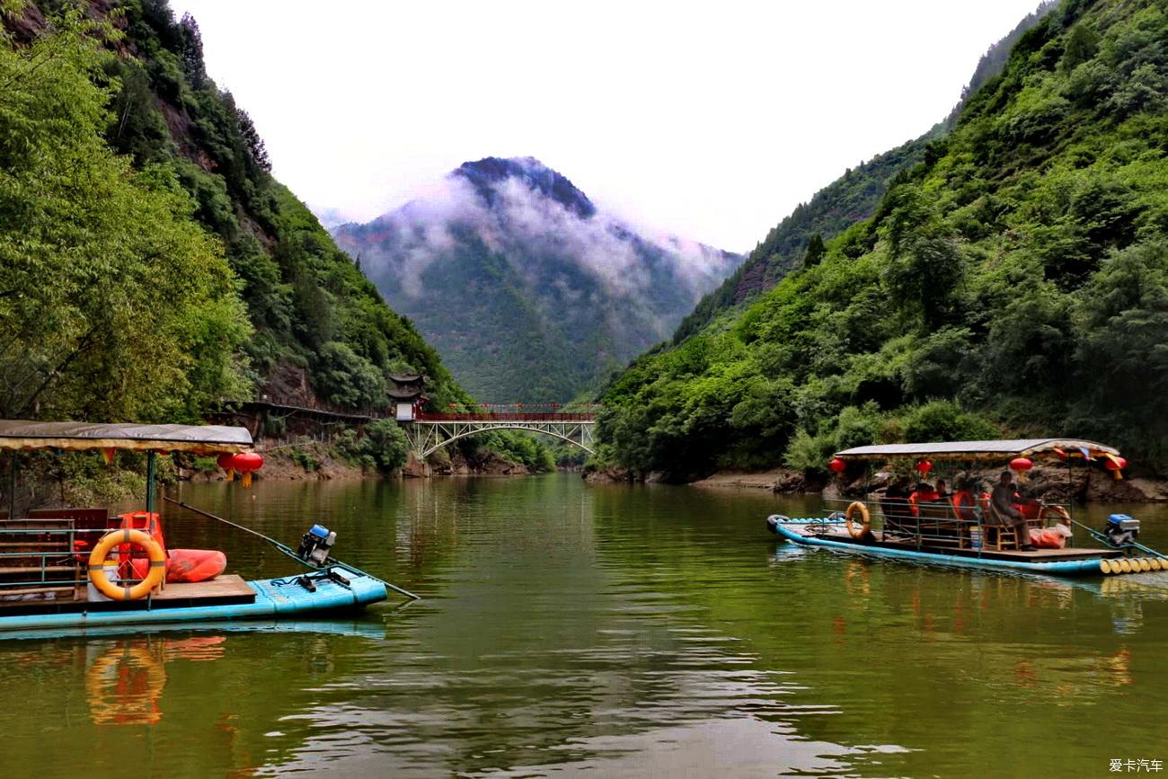
<path fill-rule="evenodd" d="M 742 260 L 633 228 L 531 158 L 466 162 L 334 236 L 461 385 L 503 403 L 595 389 Z"/>

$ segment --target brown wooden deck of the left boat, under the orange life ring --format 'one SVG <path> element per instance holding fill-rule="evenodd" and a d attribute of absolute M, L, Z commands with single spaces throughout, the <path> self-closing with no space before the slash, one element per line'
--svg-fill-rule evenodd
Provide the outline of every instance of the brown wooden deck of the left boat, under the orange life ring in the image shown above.
<path fill-rule="evenodd" d="M 30 598 L 27 600 L 4 599 L 5 596 L 11 597 L 13 594 L 28 594 Z M 35 597 L 37 594 L 41 597 Z M 76 594 L 81 597 L 75 597 Z M 167 584 L 162 592 L 151 597 L 148 604 L 146 599 L 88 600 L 84 587 L 81 587 L 79 591 L 75 591 L 71 587 L 23 589 L 19 591 L 0 589 L 0 617 L 33 613 L 141 611 L 147 607 L 224 606 L 255 603 L 255 590 L 241 577 L 230 573 L 218 576 L 209 582 Z"/>

